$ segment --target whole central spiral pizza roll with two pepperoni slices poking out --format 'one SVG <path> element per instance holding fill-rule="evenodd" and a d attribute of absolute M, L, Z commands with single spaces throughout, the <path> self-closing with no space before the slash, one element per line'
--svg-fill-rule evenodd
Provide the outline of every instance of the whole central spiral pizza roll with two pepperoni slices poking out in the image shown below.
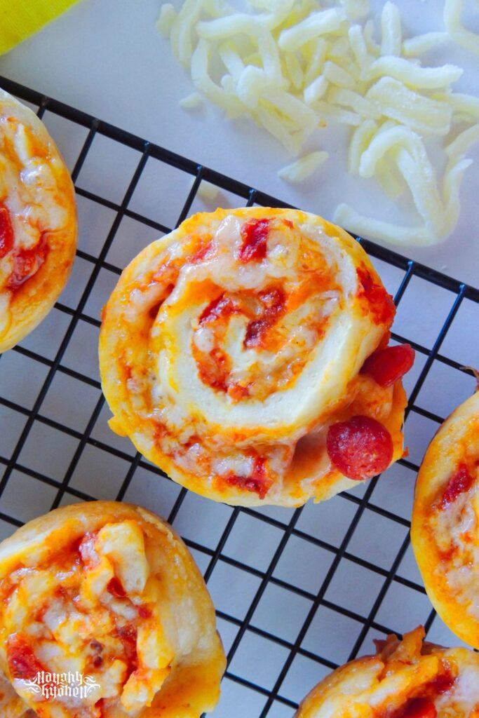
<path fill-rule="evenodd" d="M 328 498 L 402 454 L 414 352 L 386 348 L 394 312 L 361 246 L 315 215 L 194 215 L 103 310 L 111 428 L 215 500 Z"/>

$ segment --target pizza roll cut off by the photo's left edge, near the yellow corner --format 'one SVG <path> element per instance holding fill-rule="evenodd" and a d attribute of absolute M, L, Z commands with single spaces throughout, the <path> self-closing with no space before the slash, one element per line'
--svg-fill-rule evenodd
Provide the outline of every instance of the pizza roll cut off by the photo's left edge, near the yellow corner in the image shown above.
<path fill-rule="evenodd" d="M 75 194 L 37 116 L 0 89 L 0 353 L 34 329 L 75 256 Z"/>

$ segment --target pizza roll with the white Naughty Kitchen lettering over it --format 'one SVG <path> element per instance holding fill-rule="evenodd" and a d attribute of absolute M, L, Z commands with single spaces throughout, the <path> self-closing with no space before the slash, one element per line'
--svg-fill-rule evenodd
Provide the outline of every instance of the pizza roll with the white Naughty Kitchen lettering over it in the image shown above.
<path fill-rule="evenodd" d="M 40 718 L 199 718 L 218 701 L 203 577 L 144 508 L 78 503 L 27 523 L 0 545 L 0 598 L 0 670 Z"/>

